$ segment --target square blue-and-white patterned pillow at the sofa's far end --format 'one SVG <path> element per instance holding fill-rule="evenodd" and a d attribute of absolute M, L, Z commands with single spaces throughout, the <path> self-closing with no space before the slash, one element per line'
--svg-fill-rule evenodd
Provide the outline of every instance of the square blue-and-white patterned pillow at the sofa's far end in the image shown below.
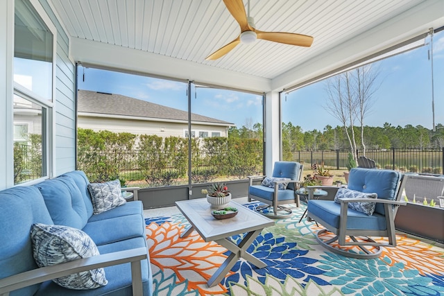
<path fill-rule="evenodd" d="M 88 190 L 91 193 L 94 214 L 114 209 L 126 202 L 125 198 L 122 197 L 119 180 L 105 183 L 89 183 Z"/>

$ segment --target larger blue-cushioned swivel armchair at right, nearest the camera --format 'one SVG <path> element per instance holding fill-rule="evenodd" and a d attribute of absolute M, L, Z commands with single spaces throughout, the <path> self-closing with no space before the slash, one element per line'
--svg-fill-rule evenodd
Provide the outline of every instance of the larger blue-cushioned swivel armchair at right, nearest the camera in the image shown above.
<path fill-rule="evenodd" d="M 307 203 L 307 218 L 325 227 L 316 233 L 318 243 L 357 259 L 377 258 L 382 247 L 395 247 L 394 221 L 398 207 L 406 204 L 401 201 L 406 180 L 407 176 L 397 171 L 352 168 L 348 188 L 339 189 L 335 200 Z M 336 236 L 325 238 L 326 232 Z M 347 236 L 350 239 L 346 240 Z M 369 236 L 385 237 L 388 242 L 374 241 Z"/>

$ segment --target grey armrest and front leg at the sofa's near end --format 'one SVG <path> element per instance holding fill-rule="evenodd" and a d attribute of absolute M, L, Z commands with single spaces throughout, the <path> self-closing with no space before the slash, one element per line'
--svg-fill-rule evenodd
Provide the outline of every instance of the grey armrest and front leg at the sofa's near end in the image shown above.
<path fill-rule="evenodd" d="M 133 295 L 142 295 L 142 265 L 141 261 L 147 258 L 146 248 L 139 247 L 131 250 L 101 254 L 84 259 L 77 259 L 66 263 L 50 265 L 43 268 L 0 279 L 0 295 L 9 295 L 10 291 L 39 284 L 58 277 L 65 277 L 76 272 L 104 268 L 112 265 L 131 263 L 133 278 Z"/>

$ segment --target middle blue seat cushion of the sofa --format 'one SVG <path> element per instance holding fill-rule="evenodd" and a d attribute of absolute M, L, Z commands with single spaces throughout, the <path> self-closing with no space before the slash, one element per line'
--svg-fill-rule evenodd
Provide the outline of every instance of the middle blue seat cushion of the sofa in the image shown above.
<path fill-rule="evenodd" d="M 137 236 L 144 237 L 144 219 L 141 215 L 128 215 L 89 222 L 83 229 L 96 245 L 105 245 Z"/>

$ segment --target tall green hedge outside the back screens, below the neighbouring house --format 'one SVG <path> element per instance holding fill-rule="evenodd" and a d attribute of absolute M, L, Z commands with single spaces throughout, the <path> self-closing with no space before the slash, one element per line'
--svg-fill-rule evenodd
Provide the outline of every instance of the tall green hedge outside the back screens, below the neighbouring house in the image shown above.
<path fill-rule="evenodd" d="M 137 144 L 136 144 L 137 143 Z M 191 139 L 191 182 L 262 173 L 262 139 Z M 137 149 L 136 149 L 137 148 Z M 144 180 L 148 186 L 188 182 L 188 139 L 78 130 L 78 168 L 92 182 Z"/>

